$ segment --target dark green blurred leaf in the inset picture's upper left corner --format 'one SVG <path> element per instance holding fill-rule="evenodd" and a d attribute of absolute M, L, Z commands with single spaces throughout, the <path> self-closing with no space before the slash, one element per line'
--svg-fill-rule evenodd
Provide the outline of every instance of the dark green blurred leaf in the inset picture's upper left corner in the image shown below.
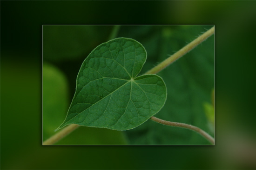
<path fill-rule="evenodd" d="M 84 55 L 108 38 L 112 26 L 43 25 L 44 60 L 63 61 Z"/>

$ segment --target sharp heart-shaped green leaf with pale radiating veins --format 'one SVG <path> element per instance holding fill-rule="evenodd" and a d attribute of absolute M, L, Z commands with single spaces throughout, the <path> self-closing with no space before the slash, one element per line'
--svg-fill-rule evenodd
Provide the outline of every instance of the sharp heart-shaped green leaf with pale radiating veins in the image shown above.
<path fill-rule="evenodd" d="M 136 77 L 146 58 L 134 39 L 116 38 L 96 47 L 82 63 L 66 120 L 56 130 L 68 124 L 128 130 L 157 113 L 166 86 L 157 75 Z"/>

